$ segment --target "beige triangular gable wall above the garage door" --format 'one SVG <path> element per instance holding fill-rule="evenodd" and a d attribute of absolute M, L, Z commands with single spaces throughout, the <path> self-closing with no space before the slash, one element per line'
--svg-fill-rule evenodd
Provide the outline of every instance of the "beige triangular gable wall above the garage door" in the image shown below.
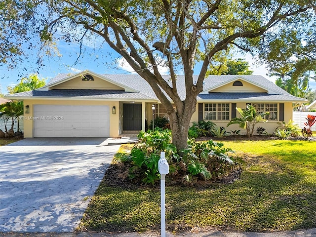
<path fill-rule="evenodd" d="M 94 80 L 82 80 L 81 77 L 63 82 L 56 86 L 51 87 L 51 89 L 98 89 L 98 90 L 123 90 L 115 84 L 112 84 L 106 80 L 94 77 Z"/>

